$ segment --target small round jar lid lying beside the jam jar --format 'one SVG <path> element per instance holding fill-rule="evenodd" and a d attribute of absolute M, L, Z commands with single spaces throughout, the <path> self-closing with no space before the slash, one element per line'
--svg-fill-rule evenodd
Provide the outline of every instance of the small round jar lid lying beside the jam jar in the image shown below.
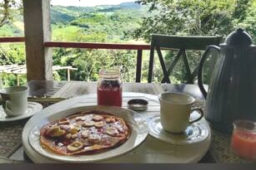
<path fill-rule="evenodd" d="M 148 109 L 148 101 L 141 99 L 128 100 L 128 109 L 134 111 L 145 111 Z"/>

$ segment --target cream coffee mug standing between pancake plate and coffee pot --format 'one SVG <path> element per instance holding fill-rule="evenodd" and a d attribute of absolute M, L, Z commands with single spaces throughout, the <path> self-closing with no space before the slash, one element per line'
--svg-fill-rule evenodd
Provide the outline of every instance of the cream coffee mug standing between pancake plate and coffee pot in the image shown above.
<path fill-rule="evenodd" d="M 163 93 L 158 95 L 160 101 L 160 119 L 163 129 L 170 133 L 183 133 L 190 124 L 203 118 L 203 110 L 191 108 L 195 99 L 182 93 Z M 198 110 L 198 119 L 190 121 L 190 114 Z"/>

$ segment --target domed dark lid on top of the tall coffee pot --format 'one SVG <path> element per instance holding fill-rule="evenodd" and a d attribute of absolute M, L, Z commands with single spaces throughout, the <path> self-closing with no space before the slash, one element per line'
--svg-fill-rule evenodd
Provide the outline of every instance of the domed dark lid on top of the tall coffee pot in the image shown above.
<path fill-rule="evenodd" d="M 225 44 L 228 46 L 250 46 L 253 44 L 253 40 L 247 32 L 243 31 L 242 28 L 238 28 L 227 36 Z"/>

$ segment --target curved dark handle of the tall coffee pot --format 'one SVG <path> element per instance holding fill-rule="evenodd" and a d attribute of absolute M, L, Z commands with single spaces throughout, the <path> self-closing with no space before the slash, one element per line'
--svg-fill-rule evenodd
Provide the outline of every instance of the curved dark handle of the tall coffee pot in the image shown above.
<path fill-rule="evenodd" d="M 203 87 L 203 77 L 202 77 L 202 72 L 203 72 L 203 63 L 204 63 L 204 61 L 206 61 L 206 59 L 208 58 L 208 52 L 209 51 L 211 51 L 211 50 L 216 50 L 216 51 L 218 51 L 218 53 L 220 53 L 220 48 L 219 48 L 219 46 L 213 46 L 213 45 L 211 45 L 211 46 L 207 46 L 206 47 L 206 50 L 204 51 L 204 53 L 203 53 L 203 56 L 202 56 L 202 59 L 201 59 L 201 61 L 200 61 L 200 63 L 199 63 L 199 66 L 198 66 L 198 87 L 199 87 L 199 89 L 201 90 L 201 92 L 202 92 L 202 94 L 203 94 L 203 96 L 204 96 L 204 98 L 206 99 L 206 97 L 207 97 L 207 91 L 204 89 L 204 87 Z"/>

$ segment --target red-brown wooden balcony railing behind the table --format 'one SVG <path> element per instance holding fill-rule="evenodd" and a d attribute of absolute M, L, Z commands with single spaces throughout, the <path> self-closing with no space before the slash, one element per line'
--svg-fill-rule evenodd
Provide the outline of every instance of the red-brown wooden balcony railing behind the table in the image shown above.
<path fill-rule="evenodd" d="M 25 37 L 0 37 L 1 42 L 23 42 Z M 136 82 L 141 81 L 143 50 L 150 50 L 147 44 L 119 44 L 119 43 L 88 43 L 88 42 L 60 42 L 46 41 L 45 47 L 63 47 L 63 48 L 85 48 L 85 49 L 106 49 L 106 50 L 136 50 Z"/>

